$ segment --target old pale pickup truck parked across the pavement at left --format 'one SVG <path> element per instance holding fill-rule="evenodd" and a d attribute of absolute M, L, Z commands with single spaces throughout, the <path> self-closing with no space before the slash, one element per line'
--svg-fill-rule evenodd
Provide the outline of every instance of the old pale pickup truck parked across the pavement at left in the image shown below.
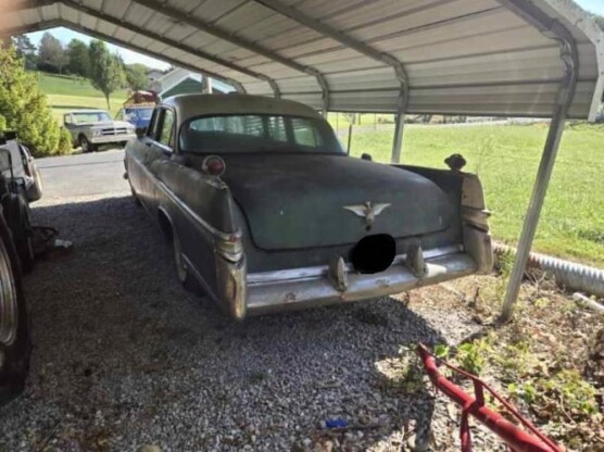
<path fill-rule="evenodd" d="M 103 110 L 75 110 L 63 115 L 63 124 L 74 147 L 83 152 L 92 152 L 99 145 L 121 143 L 136 138 L 135 127 L 124 121 L 113 121 Z"/>

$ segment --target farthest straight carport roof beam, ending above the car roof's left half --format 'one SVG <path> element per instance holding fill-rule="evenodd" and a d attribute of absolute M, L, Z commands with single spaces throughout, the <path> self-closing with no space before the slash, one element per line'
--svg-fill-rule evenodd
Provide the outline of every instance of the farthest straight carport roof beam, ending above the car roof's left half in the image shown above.
<path fill-rule="evenodd" d="M 45 4 L 53 4 L 56 1 L 50 1 L 50 2 L 45 2 Z M 70 7 L 74 10 L 76 10 L 76 11 L 79 10 L 85 14 L 88 14 L 92 17 L 96 17 L 97 20 L 108 22 L 108 23 L 110 23 L 114 26 L 128 28 L 131 32 L 137 33 L 138 35 L 146 36 L 149 39 L 153 39 L 153 40 L 163 42 L 163 43 L 165 43 L 167 46 L 171 46 L 171 47 L 174 47 L 176 49 L 183 49 L 187 53 L 190 53 L 192 55 L 196 55 L 198 58 L 201 58 L 201 59 L 204 59 L 204 60 L 207 60 L 207 61 L 212 61 L 213 63 L 219 64 L 224 67 L 228 67 L 232 71 L 239 72 L 240 74 L 244 74 L 244 75 L 248 75 L 248 76 L 253 77 L 253 78 L 257 78 L 257 79 L 263 80 L 263 81 L 267 81 L 267 79 L 270 78 L 270 77 L 268 77 L 264 74 L 259 74 L 254 71 L 247 70 L 246 67 L 241 67 L 237 64 L 234 64 L 234 63 L 231 63 L 227 60 L 223 60 L 223 59 L 221 59 L 218 56 L 215 56 L 213 54 L 206 53 L 202 50 L 198 50 L 198 49 L 194 49 L 192 47 L 185 46 L 183 43 L 174 42 L 173 40 L 166 38 L 165 36 L 159 35 L 159 34 L 153 33 L 153 32 L 149 32 L 149 30 L 147 30 L 144 28 L 141 28 L 137 25 L 126 23 L 123 20 L 119 20 L 119 18 L 114 17 L 112 15 L 101 13 L 100 11 L 88 8 L 84 4 L 79 4 L 79 3 L 77 3 L 73 0 L 61 0 L 61 1 L 59 1 L 59 3 L 63 3 L 65 7 Z M 165 58 L 162 58 L 162 59 L 165 60 Z"/>

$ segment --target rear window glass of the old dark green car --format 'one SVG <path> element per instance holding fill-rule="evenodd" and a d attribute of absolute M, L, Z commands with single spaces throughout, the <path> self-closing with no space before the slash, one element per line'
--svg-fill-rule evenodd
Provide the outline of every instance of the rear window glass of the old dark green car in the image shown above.
<path fill-rule="evenodd" d="M 344 153 L 324 120 L 259 114 L 190 120 L 180 129 L 180 149 L 192 153 Z"/>

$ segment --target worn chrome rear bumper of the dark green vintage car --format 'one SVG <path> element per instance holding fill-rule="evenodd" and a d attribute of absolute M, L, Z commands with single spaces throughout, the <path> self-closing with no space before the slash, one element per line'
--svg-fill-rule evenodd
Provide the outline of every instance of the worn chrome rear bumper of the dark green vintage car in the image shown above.
<path fill-rule="evenodd" d="M 366 300 L 404 292 L 450 279 L 471 275 L 479 264 L 460 247 L 425 252 L 425 273 L 414 275 L 405 264 L 405 256 L 398 256 L 387 271 L 363 275 L 347 268 L 344 290 L 329 277 L 329 268 L 309 267 L 246 275 L 244 266 L 221 261 L 225 266 L 218 274 L 218 301 L 231 317 L 305 309 L 327 304 Z M 231 267 L 227 269 L 226 267 Z M 223 290 L 221 290 L 223 289 Z"/>

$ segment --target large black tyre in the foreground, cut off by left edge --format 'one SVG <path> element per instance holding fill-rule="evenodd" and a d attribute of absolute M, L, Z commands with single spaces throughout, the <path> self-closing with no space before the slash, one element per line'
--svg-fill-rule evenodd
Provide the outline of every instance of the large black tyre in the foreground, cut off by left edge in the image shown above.
<path fill-rule="evenodd" d="M 29 317 L 18 259 L 0 215 L 0 405 L 18 395 L 29 371 Z"/>

